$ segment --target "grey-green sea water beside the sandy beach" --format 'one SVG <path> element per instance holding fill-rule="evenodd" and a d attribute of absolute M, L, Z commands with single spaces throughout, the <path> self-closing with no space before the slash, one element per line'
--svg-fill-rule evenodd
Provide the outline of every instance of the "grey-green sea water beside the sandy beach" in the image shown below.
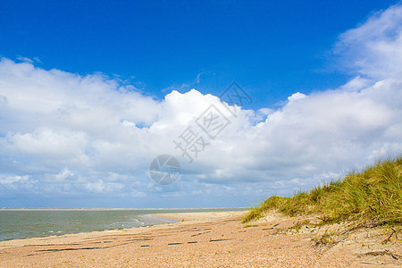
<path fill-rule="evenodd" d="M 0 241 L 125 229 L 172 222 L 149 214 L 238 211 L 207 209 L 0 209 Z"/>

